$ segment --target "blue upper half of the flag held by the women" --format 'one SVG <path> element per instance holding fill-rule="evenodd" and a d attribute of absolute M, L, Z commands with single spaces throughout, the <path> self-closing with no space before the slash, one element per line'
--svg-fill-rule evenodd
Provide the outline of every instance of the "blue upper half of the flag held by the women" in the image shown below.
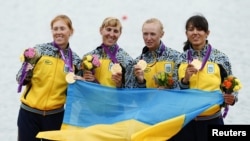
<path fill-rule="evenodd" d="M 117 89 L 76 81 L 68 87 L 63 122 L 88 127 L 135 119 L 153 125 L 185 114 L 186 125 L 202 111 L 222 102 L 220 91 Z"/>

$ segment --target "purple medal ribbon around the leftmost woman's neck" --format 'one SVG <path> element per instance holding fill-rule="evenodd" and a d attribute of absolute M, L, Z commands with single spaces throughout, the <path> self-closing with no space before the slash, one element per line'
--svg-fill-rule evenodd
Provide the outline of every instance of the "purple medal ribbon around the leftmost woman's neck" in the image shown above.
<path fill-rule="evenodd" d="M 67 65 L 69 67 L 69 71 L 73 72 L 73 68 L 72 68 L 72 64 L 73 64 L 72 51 L 71 51 L 70 47 L 68 47 L 68 58 L 66 58 L 64 53 L 63 53 L 62 48 L 60 48 L 55 42 L 53 42 L 53 46 L 56 47 L 60 51 L 60 54 L 62 56 L 62 59 L 63 59 L 65 65 Z"/>

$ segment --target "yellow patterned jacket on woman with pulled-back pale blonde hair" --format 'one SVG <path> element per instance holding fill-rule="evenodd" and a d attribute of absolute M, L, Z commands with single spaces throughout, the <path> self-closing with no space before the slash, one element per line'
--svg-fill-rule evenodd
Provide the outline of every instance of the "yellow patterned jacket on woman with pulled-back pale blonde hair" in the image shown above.
<path fill-rule="evenodd" d="M 177 74 L 174 72 L 175 61 L 178 59 L 179 52 L 164 46 L 164 51 L 161 52 L 161 46 L 158 47 L 155 51 L 149 51 L 145 46 L 143 48 L 142 54 L 135 59 L 135 62 L 138 62 L 140 59 L 143 59 L 147 62 L 147 68 L 144 70 L 144 79 L 146 80 L 147 88 L 157 88 L 155 83 L 154 76 L 159 72 L 166 72 L 174 78 L 173 88 L 178 87 Z M 136 79 L 134 77 L 134 79 Z M 141 87 L 136 80 L 134 80 L 134 87 Z"/>

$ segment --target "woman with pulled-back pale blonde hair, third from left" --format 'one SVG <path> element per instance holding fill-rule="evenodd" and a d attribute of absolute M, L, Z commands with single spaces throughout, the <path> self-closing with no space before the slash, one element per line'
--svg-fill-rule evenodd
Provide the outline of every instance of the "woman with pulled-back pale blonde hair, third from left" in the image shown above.
<path fill-rule="evenodd" d="M 142 26 L 142 36 L 145 46 L 140 56 L 136 57 L 135 62 L 144 60 L 147 63 L 145 70 L 139 65 L 134 65 L 134 79 L 132 82 L 135 88 L 158 88 L 154 76 L 157 73 L 165 72 L 174 79 L 172 88 L 178 88 L 176 83 L 176 73 L 174 73 L 175 62 L 180 52 L 164 44 L 161 40 L 164 36 L 164 28 L 161 21 L 157 18 L 147 19 Z"/>

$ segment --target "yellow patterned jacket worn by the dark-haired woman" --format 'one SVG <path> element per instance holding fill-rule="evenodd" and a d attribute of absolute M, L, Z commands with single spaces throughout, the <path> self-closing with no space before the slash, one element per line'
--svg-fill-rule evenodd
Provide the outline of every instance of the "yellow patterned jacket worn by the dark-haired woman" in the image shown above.
<path fill-rule="evenodd" d="M 205 57 L 208 49 L 206 45 L 201 51 L 195 51 L 190 48 L 192 58 L 198 58 L 200 61 Z M 185 76 L 185 71 L 188 65 L 188 50 L 183 52 L 178 61 L 177 68 L 179 85 L 181 89 L 200 89 L 205 91 L 221 90 L 221 83 L 223 79 L 232 74 L 231 63 L 229 58 L 223 52 L 212 48 L 210 56 L 204 66 L 204 68 L 194 74 L 190 80 L 189 84 L 185 85 L 181 83 L 181 79 Z M 215 114 L 220 110 L 220 106 L 212 107 L 206 110 L 200 116 L 210 116 Z"/>

